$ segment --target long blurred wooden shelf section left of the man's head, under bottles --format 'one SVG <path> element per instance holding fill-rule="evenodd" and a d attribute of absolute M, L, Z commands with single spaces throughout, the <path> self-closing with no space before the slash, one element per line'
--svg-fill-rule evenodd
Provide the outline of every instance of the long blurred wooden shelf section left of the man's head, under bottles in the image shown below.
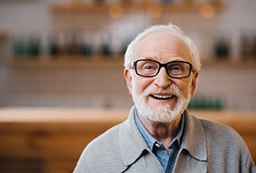
<path fill-rule="evenodd" d="M 56 56 L 56 57 L 14 57 L 9 62 L 10 67 L 121 67 L 123 68 L 123 57 L 121 56 Z"/>

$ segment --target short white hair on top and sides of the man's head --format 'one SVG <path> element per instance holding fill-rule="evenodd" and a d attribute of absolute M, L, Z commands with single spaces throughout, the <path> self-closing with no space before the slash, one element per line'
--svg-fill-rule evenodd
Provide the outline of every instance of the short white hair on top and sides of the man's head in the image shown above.
<path fill-rule="evenodd" d="M 200 63 L 196 44 L 188 36 L 185 36 L 183 31 L 178 26 L 173 24 L 153 25 L 146 28 L 142 33 L 136 36 L 133 39 L 133 41 L 130 43 L 130 45 L 127 46 L 126 52 L 124 54 L 124 67 L 130 68 L 131 66 L 133 66 L 133 57 L 134 57 L 133 51 L 139 41 L 144 39 L 144 37 L 146 36 L 149 36 L 153 33 L 160 33 L 160 32 L 168 32 L 170 34 L 173 34 L 175 36 L 182 38 L 184 42 L 187 44 L 193 70 L 196 70 L 196 71 L 200 70 L 201 63 Z"/>

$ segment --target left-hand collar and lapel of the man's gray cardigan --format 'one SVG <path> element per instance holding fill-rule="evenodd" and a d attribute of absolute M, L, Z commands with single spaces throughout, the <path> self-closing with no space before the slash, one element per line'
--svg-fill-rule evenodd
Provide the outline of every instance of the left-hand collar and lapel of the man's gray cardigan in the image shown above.
<path fill-rule="evenodd" d="M 162 172 L 163 168 L 161 164 L 148 148 L 144 137 L 135 124 L 133 112 L 134 107 L 131 109 L 128 119 L 124 121 L 119 131 L 123 165 L 126 167 L 122 172 L 126 170 L 142 173 Z"/>

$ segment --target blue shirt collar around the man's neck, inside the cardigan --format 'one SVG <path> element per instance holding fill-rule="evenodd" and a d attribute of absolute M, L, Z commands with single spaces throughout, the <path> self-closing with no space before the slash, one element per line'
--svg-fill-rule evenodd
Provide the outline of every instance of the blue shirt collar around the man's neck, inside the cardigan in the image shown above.
<path fill-rule="evenodd" d="M 141 132 L 142 136 L 144 137 L 144 140 L 147 144 L 147 146 L 150 148 L 151 151 L 153 151 L 153 148 L 155 146 L 155 143 L 161 144 L 161 142 L 155 140 L 154 137 L 152 137 L 149 132 L 145 129 L 144 125 L 142 124 L 142 122 L 140 121 L 138 115 L 137 115 L 137 111 L 134 108 L 134 112 L 133 112 L 133 116 L 134 116 L 134 120 L 135 120 L 135 124 L 138 127 L 139 131 Z M 180 142 L 181 142 L 181 137 L 183 134 L 183 129 L 184 129 L 184 124 L 185 124 L 185 117 L 184 114 L 182 114 L 181 116 L 181 124 L 180 124 L 180 129 L 176 135 L 176 137 L 172 140 L 172 142 L 170 143 L 169 147 L 175 142 L 177 141 L 177 145 L 180 146 Z"/>

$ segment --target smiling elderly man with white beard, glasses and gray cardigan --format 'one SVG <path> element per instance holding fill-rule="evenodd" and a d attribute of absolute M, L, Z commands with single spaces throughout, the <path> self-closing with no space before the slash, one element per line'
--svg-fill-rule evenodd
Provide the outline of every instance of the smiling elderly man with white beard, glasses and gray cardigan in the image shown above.
<path fill-rule="evenodd" d="M 200 60 L 176 25 L 155 25 L 127 47 L 124 77 L 134 106 L 94 139 L 74 172 L 252 172 L 251 154 L 230 127 L 187 112 Z"/>

